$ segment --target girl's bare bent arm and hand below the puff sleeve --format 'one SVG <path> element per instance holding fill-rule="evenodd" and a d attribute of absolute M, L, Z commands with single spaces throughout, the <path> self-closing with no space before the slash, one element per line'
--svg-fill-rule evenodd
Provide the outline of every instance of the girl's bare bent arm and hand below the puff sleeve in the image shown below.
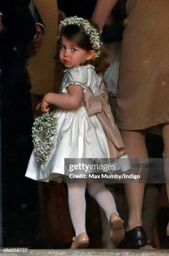
<path fill-rule="evenodd" d="M 70 84 L 68 93 L 47 93 L 36 109 L 41 106 L 43 113 L 47 113 L 50 104 L 60 108 L 75 109 L 81 105 L 81 102 L 83 102 L 83 88 L 80 85 Z"/>

